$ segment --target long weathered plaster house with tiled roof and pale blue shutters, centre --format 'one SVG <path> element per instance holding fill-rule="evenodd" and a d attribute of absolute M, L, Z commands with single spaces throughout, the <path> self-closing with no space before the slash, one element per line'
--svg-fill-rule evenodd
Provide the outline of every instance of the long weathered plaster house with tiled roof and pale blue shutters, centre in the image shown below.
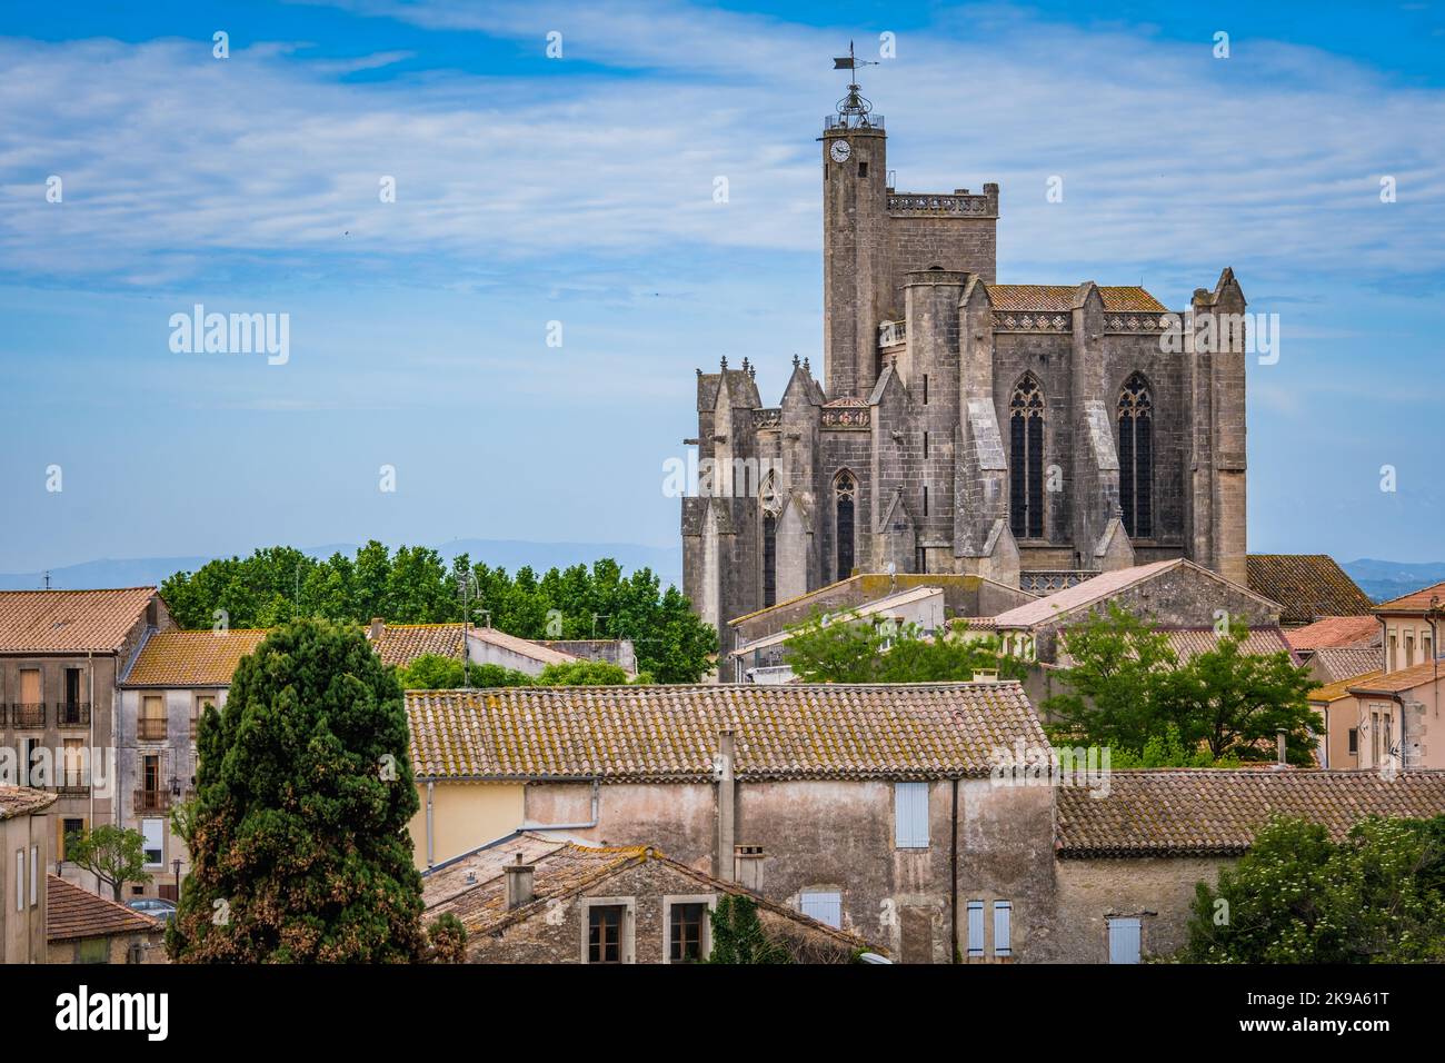
<path fill-rule="evenodd" d="M 1042 959 L 1049 785 L 991 778 L 1046 746 L 1017 683 L 410 691 L 418 866 L 522 829 L 649 845 L 902 962 Z M 962 913 L 968 913 L 965 917 Z"/>

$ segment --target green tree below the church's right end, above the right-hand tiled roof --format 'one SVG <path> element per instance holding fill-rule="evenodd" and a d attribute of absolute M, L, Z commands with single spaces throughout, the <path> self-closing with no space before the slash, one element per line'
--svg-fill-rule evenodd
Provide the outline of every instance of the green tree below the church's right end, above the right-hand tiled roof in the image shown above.
<path fill-rule="evenodd" d="M 1168 636 L 1111 606 L 1064 635 L 1071 667 L 1064 693 L 1045 699 L 1051 733 L 1064 743 L 1091 743 L 1142 754 L 1172 726 L 1183 749 L 1207 749 L 1208 761 L 1274 756 L 1276 730 L 1286 733 L 1292 764 L 1311 764 L 1318 684 L 1289 654 L 1246 654 L 1248 629 L 1231 625 L 1215 646 L 1179 661 Z"/>

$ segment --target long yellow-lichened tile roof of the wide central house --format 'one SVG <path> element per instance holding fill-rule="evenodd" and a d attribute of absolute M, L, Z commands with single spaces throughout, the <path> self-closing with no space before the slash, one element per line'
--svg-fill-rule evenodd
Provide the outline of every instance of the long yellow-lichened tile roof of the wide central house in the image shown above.
<path fill-rule="evenodd" d="M 709 781 L 728 727 L 744 780 L 987 775 L 1045 742 L 1017 683 L 419 690 L 406 712 L 423 778 Z"/>

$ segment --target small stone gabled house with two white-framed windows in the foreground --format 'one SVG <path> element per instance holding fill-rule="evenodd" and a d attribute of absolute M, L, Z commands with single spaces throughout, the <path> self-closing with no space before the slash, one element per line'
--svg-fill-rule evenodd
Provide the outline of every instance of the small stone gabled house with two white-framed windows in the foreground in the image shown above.
<path fill-rule="evenodd" d="M 740 853 L 760 865 L 762 853 Z M 743 876 L 750 872 L 744 868 Z M 473 963 L 696 963 L 718 898 L 750 897 L 763 931 L 801 963 L 850 963 L 867 942 L 705 875 L 653 846 L 595 846 L 519 832 L 429 871 L 431 923 L 451 913 Z"/>

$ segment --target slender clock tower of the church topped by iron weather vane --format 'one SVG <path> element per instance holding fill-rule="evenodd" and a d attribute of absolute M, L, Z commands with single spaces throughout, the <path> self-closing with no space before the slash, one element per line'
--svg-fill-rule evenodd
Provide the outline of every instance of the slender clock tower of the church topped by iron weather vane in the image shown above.
<path fill-rule="evenodd" d="M 887 289 L 887 137 L 883 117 L 858 91 L 824 119 L 822 350 L 829 399 L 864 398 L 879 376 L 879 321 Z"/>

